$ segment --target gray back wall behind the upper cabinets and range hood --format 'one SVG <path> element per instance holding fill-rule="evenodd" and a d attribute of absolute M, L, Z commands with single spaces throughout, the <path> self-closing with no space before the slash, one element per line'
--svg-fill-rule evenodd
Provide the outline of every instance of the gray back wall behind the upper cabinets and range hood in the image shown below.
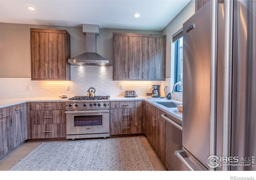
<path fill-rule="evenodd" d="M 85 52 L 82 27 L 0 23 L 0 78 L 31 77 L 30 28 L 67 30 L 71 36 L 71 57 Z M 110 66 L 113 65 L 113 32 L 161 34 L 161 31 L 100 29 L 97 52 L 110 61 Z"/>

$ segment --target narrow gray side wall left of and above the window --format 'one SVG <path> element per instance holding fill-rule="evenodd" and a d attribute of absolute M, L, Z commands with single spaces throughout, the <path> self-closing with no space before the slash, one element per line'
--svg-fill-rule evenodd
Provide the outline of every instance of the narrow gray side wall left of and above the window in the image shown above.
<path fill-rule="evenodd" d="M 174 79 L 174 44 L 172 44 L 172 35 L 178 32 L 193 14 L 195 13 L 195 1 L 190 1 L 185 8 L 162 30 L 162 34 L 166 35 L 166 78 Z M 172 83 L 171 83 L 172 84 Z"/>

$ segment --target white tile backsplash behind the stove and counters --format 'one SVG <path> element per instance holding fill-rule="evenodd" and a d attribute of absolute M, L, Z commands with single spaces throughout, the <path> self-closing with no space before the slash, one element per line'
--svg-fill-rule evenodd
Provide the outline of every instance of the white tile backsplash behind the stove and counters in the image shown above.
<path fill-rule="evenodd" d="M 167 81 L 113 81 L 112 66 L 71 66 L 71 81 L 32 81 L 31 78 L 0 78 L 0 98 L 86 96 L 90 87 L 96 95 L 124 96 L 126 89 L 136 90 L 138 96 L 151 92 L 149 86 L 161 85 L 161 93 Z M 167 78 L 168 79 L 168 78 Z M 120 90 L 120 85 L 124 90 Z M 28 90 L 32 86 L 32 90 Z M 67 91 L 67 86 L 70 90 Z M 169 88 L 169 86 L 168 86 Z M 164 94 L 162 94 L 163 96 Z"/>

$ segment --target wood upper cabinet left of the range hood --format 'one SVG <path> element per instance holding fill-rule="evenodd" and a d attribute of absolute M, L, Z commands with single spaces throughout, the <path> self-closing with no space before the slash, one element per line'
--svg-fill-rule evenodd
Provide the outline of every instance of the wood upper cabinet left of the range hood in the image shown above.
<path fill-rule="evenodd" d="M 31 79 L 70 80 L 70 34 L 66 30 L 30 29 Z"/>

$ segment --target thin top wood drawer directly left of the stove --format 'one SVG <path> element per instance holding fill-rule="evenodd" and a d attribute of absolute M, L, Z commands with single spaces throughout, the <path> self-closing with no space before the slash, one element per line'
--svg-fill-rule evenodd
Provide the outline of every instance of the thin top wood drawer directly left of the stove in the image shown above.
<path fill-rule="evenodd" d="M 31 102 L 30 110 L 61 110 L 65 109 L 65 102 Z"/>

